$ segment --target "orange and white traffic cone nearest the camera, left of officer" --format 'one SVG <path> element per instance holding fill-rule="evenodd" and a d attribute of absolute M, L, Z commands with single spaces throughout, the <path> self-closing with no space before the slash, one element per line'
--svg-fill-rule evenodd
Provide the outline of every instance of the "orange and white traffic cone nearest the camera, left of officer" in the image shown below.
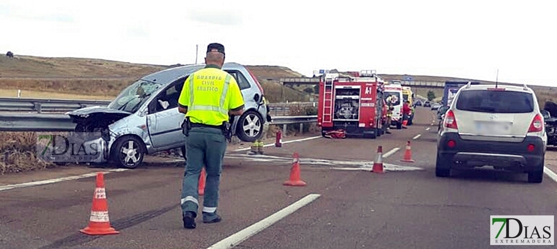
<path fill-rule="evenodd" d="M 108 201 L 106 201 L 104 174 L 102 172 L 97 173 L 95 195 L 93 196 L 89 225 L 79 231 L 87 235 L 115 235 L 120 233 L 110 226 Z"/>

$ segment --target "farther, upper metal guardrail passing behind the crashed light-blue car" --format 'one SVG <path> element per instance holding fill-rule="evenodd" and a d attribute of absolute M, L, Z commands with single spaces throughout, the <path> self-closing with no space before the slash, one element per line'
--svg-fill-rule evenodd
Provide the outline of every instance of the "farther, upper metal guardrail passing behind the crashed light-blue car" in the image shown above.
<path fill-rule="evenodd" d="M 79 99 L 0 98 L 0 112 L 69 112 L 90 106 L 108 106 L 110 101 Z M 269 103 L 272 115 L 289 115 L 290 107 L 316 106 L 314 102 Z"/>

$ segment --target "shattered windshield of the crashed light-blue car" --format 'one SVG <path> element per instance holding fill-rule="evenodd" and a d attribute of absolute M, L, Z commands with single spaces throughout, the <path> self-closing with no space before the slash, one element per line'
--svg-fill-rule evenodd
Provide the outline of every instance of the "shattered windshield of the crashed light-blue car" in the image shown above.
<path fill-rule="evenodd" d="M 108 107 L 134 113 L 160 86 L 160 83 L 139 79 L 126 87 Z"/>

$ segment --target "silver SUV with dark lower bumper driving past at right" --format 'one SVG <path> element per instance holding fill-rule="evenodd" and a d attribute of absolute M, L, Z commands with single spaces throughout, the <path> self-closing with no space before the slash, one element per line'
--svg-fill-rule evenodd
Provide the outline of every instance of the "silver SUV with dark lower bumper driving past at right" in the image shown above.
<path fill-rule="evenodd" d="M 468 83 L 458 90 L 438 135 L 438 177 L 448 177 L 451 168 L 488 165 L 528 173 L 529 182 L 543 179 L 544 118 L 526 85 Z"/>

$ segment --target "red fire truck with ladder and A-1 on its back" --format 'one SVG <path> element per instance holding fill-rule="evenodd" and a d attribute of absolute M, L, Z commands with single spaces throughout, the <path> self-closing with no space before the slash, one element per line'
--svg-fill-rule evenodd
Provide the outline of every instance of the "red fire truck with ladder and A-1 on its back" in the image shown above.
<path fill-rule="evenodd" d="M 343 130 L 347 136 L 382 135 L 383 83 L 374 70 L 346 76 L 325 71 L 319 81 L 317 111 L 321 134 Z"/>

